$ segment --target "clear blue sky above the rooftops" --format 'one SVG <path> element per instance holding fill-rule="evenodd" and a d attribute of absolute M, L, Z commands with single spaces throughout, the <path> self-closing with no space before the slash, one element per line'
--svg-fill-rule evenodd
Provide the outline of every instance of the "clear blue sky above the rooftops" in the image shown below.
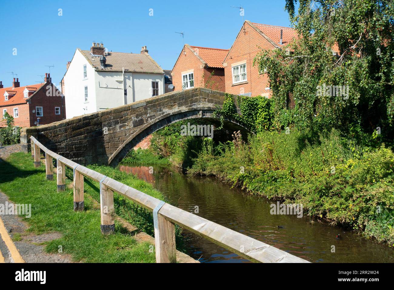
<path fill-rule="evenodd" d="M 42 81 L 49 72 L 58 84 L 76 48 L 102 42 L 108 51 L 139 53 L 146 45 L 163 69 L 172 69 L 184 42 L 229 49 L 244 19 L 290 26 L 284 0 L 260 1 L 2 1 L 0 9 L 0 80 L 11 86 Z M 62 9 L 62 16 L 59 10 Z M 153 9 L 153 16 L 149 16 Z M 16 55 L 13 52 L 16 50 Z M 16 76 L 15 76 L 16 77 Z"/>

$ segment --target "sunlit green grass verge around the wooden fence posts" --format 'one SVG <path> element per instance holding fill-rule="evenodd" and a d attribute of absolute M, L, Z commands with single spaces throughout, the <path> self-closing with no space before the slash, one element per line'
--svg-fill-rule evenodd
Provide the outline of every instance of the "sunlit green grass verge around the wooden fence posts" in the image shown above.
<path fill-rule="evenodd" d="M 108 176 L 116 176 L 114 168 L 93 168 L 100 169 L 100 172 L 105 172 Z M 35 168 L 30 154 L 12 154 L 7 162 L 0 163 L 0 172 L 0 190 L 9 196 L 12 202 L 32 204 L 32 217 L 23 217 L 30 225 L 27 231 L 34 234 L 56 231 L 62 234 L 62 238 L 47 243 L 46 251 L 58 253 L 59 249 L 62 249 L 63 253 L 70 254 L 74 261 L 82 262 L 155 262 L 154 251 L 149 252 L 150 244 L 138 243 L 116 221 L 114 234 L 101 234 L 100 211 L 94 206 L 93 201 L 87 198 L 90 194 L 97 198 L 97 183 L 85 180 L 85 211 L 74 212 L 72 189 L 66 185 L 64 192 L 57 192 L 56 174 L 54 180 L 46 180 L 45 167 Z M 70 172 L 67 173 L 69 174 Z M 123 179 L 118 179 L 119 181 L 162 198 L 158 191 L 143 181 L 132 175 L 120 174 Z M 70 179 L 66 180 L 66 184 L 70 182 Z M 121 198 L 115 195 L 115 200 L 115 206 L 119 211 Z M 133 214 L 134 220 L 138 220 L 146 228 L 151 228 L 151 221 L 144 221 L 147 216 L 139 216 L 138 210 Z"/>

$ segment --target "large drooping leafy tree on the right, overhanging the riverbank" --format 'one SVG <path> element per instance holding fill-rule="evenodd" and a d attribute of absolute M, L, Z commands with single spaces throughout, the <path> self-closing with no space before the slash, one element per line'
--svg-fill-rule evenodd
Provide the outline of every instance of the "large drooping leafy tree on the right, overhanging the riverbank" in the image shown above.
<path fill-rule="evenodd" d="M 392 0 L 286 0 L 298 38 L 254 60 L 267 69 L 275 124 L 336 128 L 364 138 L 380 128 L 393 139 L 394 5 Z M 333 51 L 338 51 L 335 55 Z M 292 94 L 295 108 L 286 109 Z"/>

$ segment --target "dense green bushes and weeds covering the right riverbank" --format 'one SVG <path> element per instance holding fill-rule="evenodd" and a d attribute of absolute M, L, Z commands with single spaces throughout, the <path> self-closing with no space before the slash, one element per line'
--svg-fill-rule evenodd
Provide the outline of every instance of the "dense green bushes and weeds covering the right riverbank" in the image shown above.
<path fill-rule="evenodd" d="M 267 198 L 303 204 L 312 217 L 393 244 L 392 220 L 387 218 L 394 215 L 392 150 L 356 146 L 335 130 L 318 136 L 312 130 L 262 131 L 246 144 L 234 134 L 232 144 L 201 151 L 188 173 L 216 176 Z M 378 206 L 387 215 L 377 215 Z M 379 225 L 379 232 L 372 225 Z"/>

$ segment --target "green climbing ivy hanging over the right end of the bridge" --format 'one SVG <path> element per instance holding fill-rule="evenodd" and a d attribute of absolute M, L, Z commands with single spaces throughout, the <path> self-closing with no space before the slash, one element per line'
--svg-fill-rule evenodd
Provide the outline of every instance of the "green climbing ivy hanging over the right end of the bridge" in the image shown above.
<path fill-rule="evenodd" d="M 241 114 L 237 112 L 233 95 L 225 94 L 223 107 L 214 112 L 214 116 L 221 121 L 221 126 L 218 129 L 223 128 L 224 118 L 235 119 L 253 132 L 271 128 L 273 105 L 270 99 L 262 96 L 247 97 L 239 95 L 237 96 L 237 102 Z"/>

